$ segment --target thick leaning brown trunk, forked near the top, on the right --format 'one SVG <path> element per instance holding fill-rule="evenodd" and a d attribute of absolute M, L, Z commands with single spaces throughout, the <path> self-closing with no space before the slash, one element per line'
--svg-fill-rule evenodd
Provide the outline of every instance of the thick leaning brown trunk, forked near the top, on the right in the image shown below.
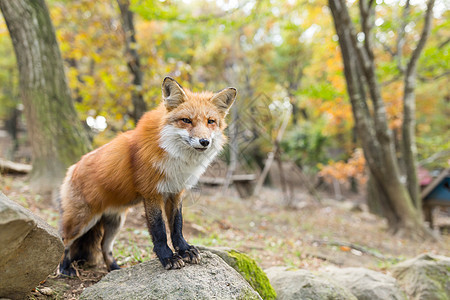
<path fill-rule="evenodd" d="M 377 199 L 385 212 L 392 231 L 406 236 L 425 237 L 420 210 L 411 200 L 401 181 L 392 132 L 388 127 L 386 108 L 377 82 L 371 33 L 374 1 L 361 0 L 360 14 L 365 34 L 364 44 L 356 39 L 345 0 L 329 0 L 336 32 L 339 36 L 347 91 L 352 104 L 355 127 L 364 150 L 369 170 L 373 175 L 372 187 L 380 189 Z M 371 21 L 372 20 L 372 21 Z M 366 92 L 367 90 L 367 92 Z M 372 102 L 370 112 L 367 97 Z M 386 210 L 390 210 L 386 213 Z"/>

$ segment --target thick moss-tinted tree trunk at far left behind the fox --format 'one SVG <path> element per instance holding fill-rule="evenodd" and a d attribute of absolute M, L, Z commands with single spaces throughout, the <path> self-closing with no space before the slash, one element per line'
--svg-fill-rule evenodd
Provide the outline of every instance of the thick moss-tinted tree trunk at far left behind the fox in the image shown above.
<path fill-rule="evenodd" d="M 0 0 L 17 57 L 20 95 L 32 146 L 31 185 L 60 184 L 67 166 L 89 149 L 72 103 L 55 31 L 44 0 Z"/>

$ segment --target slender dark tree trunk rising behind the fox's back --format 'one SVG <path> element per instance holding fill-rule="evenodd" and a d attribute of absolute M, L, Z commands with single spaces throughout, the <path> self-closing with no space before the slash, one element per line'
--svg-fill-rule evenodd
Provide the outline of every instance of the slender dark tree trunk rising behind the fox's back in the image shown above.
<path fill-rule="evenodd" d="M 130 11 L 129 0 L 117 0 L 122 17 L 122 28 L 125 35 L 125 57 L 128 69 L 133 76 L 133 92 L 131 101 L 133 103 L 133 119 L 135 123 L 147 111 L 147 104 L 142 96 L 142 71 L 139 54 L 136 50 L 136 32 L 134 29 L 133 12 Z"/>

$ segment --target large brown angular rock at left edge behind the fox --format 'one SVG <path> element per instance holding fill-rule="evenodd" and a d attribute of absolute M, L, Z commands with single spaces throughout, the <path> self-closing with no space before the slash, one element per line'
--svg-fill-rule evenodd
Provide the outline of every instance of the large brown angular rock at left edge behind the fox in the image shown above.
<path fill-rule="evenodd" d="M 0 192 L 0 298 L 23 299 L 63 252 L 56 229 Z"/>

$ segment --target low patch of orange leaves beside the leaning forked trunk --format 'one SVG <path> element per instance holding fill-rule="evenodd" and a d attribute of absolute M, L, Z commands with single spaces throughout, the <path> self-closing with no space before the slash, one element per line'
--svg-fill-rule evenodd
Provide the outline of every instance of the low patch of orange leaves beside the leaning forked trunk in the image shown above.
<path fill-rule="evenodd" d="M 364 184 L 367 181 L 367 176 L 364 172 L 366 160 L 361 148 L 356 148 L 352 156 L 347 162 L 330 161 L 328 165 L 318 165 L 320 172 L 325 181 L 331 183 L 337 180 L 340 183 L 346 183 L 350 178 L 355 178 L 359 184 Z"/>

